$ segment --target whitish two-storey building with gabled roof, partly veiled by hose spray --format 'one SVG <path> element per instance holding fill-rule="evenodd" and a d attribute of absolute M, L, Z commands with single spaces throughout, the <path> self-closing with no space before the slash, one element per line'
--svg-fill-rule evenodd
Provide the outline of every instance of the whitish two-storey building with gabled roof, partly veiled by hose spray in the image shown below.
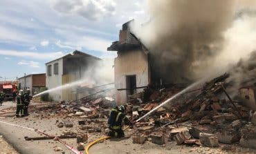
<path fill-rule="evenodd" d="M 85 76 L 86 70 L 95 66 L 101 59 L 88 55 L 78 50 L 46 63 L 46 87 L 57 88 L 73 81 L 78 81 Z M 50 93 L 54 101 L 69 101 L 79 99 L 77 87 L 55 90 Z"/>

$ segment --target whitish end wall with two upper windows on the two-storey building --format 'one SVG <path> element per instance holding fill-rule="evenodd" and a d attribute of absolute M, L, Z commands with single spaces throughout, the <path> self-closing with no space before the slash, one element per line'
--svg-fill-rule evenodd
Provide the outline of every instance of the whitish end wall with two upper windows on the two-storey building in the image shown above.
<path fill-rule="evenodd" d="M 59 63 L 59 73 L 55 75 L 53 73 L 53 65 L 55 63 Z M 52 65 L 51 76 L 47 74 L 47 66 Z M 57 59 L 55 61 L 51 61 L 50 63 L 46 64 L 46 87 L 48 89 L 55 88 L 57 86 L 62 86 L 62 75 L 63 75 L 63 60 Z M 51 98 L 54 101 L 60 102 L 62 101 L 62 90 L 55 91 L 50 93 Z"/>

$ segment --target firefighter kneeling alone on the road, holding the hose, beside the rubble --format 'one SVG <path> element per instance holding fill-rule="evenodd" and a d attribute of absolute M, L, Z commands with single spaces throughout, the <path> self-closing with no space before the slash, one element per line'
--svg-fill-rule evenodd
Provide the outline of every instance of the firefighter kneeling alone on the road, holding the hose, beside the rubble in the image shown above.
<path fill-rule="evenodd" d="M 108 124 L 109 124 L 109 136 L 111 137 L 124 137 L 125 133 L 122 131 L 122 121 L 125 122 L 126 125 L 132 126 L 132 123 L 129 121 L 127 116 L 125 115 L 126 107 L 125 106 L 116 106 L 111 109 L 111 113 L 109 116 Z"/>

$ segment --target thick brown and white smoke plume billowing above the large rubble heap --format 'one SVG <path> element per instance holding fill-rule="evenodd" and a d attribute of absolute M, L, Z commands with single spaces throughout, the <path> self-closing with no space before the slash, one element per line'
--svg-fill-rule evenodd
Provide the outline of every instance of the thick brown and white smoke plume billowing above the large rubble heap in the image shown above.
<path fill-rule="evenodd" d="M 152 74 L 165 82 L 222 73 L 256 49 L 255 16 L 246 13 L 254 1 L 149 0 L 148 6 L 150 21 L 131 30 L 150 50 Z"/>

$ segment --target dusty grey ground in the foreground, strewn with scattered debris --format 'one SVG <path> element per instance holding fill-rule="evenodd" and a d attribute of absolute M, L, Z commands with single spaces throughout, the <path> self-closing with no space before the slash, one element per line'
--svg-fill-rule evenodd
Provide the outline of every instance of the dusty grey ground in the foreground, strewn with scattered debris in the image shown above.
<path fill-rule="evenodd" d="M 39 104 L 32 103 L 32 105 L 38 106 Z M 3 106 L 0 106 L 0 111 L 3 108 L 10 108 L 15 106 L 12 102 L 4 102 Z M 8 122 L 11 124 L 17 124 L 20 126 L 25 126 L 29 128 L 37 128 L 45 133 L 51 135 L 60 135 L 64 131 L 80 131 L 78 128 L 78 117 L 68 118 L 73 121 L 73 128 L 58 128 L 56 121 L 61 121 L 62 118 L 42 118 L 38 113 L 31 113 L 29 117 L 16 118 L 15 113 L 10 113 L 8 117 L 0 117 L 1 122 Z M 45 113 L 48 114 L 48 113 Z M 0 115 L 2 116 L 2 115 Z M 17 149 L 19 153 L 72 153 L 65 146 L 53 140 L 40 140 L 40 141 L 26 141 L 25 136 L 29 137 L 39 137 L 40 135 L 34 131 L 29 131 L 24 128 L 17 128 L 15 126 L 10 126 L 8 124 L 3 124 L 0 122 L 0 135 L 3 135 L 6 140 Z M 132 130 L 126 131 L 126 135 L 129 136 Z M 89 142 L 102 137 L 98 133 L 89 134 Z M 77 147 L 76 139 L 64 139 L 68 144 L 71 144 L 75 148 Z M 88 144 L 87 143 L 87 144 Z M 85 146 L 87 145 L 85 144 Z M 1 145 L 0 145 L 1 146 Z M 55 152 L 53 149 L 55 147 L 62 148 L 62 151 Z M 9 146 L 10 147 L 10 146 Z M 175 142 L 168 142 L 164 146 L 159 146 L 152 144 L 151 142 L 146 142 L 145 144 L 133 144 L 131 138 L 124 139 L 109 139 L 99 144 L 95 144 L 90 148 L 90 153 L 97 154 L 118 154 L 118 153 L 149 153 L 149 154 L 161 154 L 161 153 L 256 153 L 256 151 L 241 148 L 237 145 L 232 145 L 233 151 L 223 151 L 221 150 L 221 145 L 219 148 L 208 148 L 204 146 L 177 146 Z M 4 151 L 8 150 L 8 146 L 4 146 Z M 7 153 L 7 152 L 6 152 Z"/>

